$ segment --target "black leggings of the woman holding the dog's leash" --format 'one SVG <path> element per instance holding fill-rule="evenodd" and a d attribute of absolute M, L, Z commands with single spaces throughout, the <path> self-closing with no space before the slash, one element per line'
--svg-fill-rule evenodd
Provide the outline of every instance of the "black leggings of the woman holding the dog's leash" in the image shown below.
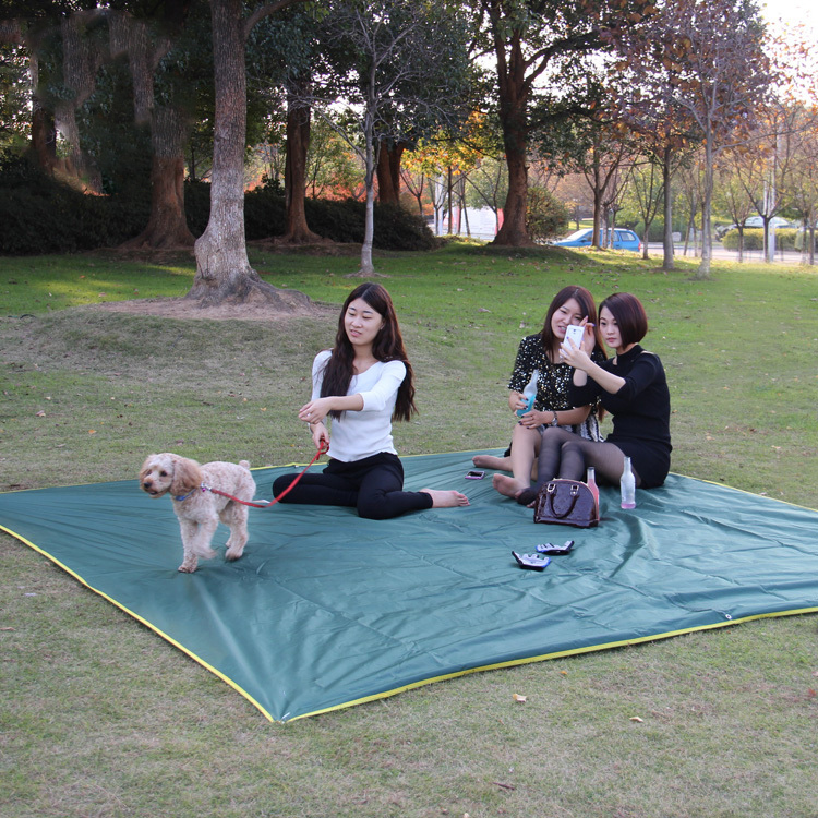
<path fill-rule="evenodd" d="M 278 496 L 294 480 L 282 474 L 273 483 Z M 432 507 L 428 492 L 404 491 L 404 466 L 397 455 L 381 453 L 363 460 L 329 460 L 321 474 L 304 474 L 281 503 L 351 506 L 360 517 L 385 520 Z"/>

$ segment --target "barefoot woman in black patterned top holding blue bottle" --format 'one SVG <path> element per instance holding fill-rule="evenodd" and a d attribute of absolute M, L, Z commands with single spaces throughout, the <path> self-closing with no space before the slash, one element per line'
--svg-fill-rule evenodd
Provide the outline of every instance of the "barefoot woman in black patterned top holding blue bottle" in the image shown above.
<path fill-rule="evenodd" d="M 549 306 L 542 330 L 522 339 L 517 351 L 514 371 L 508 382 L 508 406 L 517 412 L 527 406 L 522 395 L 534 370 L 538 371 L 537 397 L 533 408 L 519 417 L 512 435 L 510 455 L 495 458 L 478 455 L 474 465 L 482 468 L 509 469 L 512 477 L 495 474 L 492 484 L 508 497 L 520 503 L 530 502 L 531 469 L 540 450 L 542 432 L 548 426 L 562 426 L 587 440 L 598 441 L 599 425 L 591 405 L 575 407 L 568 399 L 573 370 L 560 361 L 560 347 L 565 330 L 584 318 L 597 322 L 593 297 L 584 287 L 564 287 Z M 597 360 L 604 360 L 602 345 L 593 351 Z"/>

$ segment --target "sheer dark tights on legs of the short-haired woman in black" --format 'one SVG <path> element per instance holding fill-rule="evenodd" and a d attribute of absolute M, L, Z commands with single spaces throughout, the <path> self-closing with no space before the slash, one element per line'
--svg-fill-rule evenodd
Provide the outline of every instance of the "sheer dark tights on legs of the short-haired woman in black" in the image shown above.
<path fill-rule="evenodd" d="M 549 480 L 585 480 L 586 467 L 593 466 L 597 482 L 618 485 L 625 455 L 615 443 L 588 441 L 565 429 L 549 428 L 542 433 L 537 469 L 537 488 Z M 631 465 L 633 469 L 633 465 Z M 636 484 L 641 480 L 633 469 Z"/>

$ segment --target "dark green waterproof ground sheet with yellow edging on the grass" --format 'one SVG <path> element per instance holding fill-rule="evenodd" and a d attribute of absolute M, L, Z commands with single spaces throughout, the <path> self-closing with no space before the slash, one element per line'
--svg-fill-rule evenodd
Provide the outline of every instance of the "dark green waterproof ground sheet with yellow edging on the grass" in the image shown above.
<path fill-rule="evenodd" d="M 0 494 L 0 526 L 290 720 L 478 670 L 818 610 L 818 512 L 671 474 L 594 529 L 536 525 L 468 480 L 472 453 L 404 458 L 406 486 L 468 508 L 395 520 L 353 509 L 250 509 L 250 542 L 181 574 L 169 497 L 136 480 Z M 321 467 L 313 467 L 313 469 Z M 254 471 L 257 497 L 291 468 Z M 512 551 L 574 539 L 543 572 Z"/>

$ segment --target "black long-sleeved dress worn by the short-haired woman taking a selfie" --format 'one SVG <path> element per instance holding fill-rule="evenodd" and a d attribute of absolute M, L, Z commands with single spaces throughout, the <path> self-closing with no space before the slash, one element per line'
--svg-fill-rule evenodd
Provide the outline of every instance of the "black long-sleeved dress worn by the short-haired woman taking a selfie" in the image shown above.
<path fill-rule="evenodd" d="M 569 396 L 577 406 L 599 400 L 613 416 L 613 432 L 605 441 L 630 457 L 642 489 L 661 485 L 671 468 L 671 394 L 659 356 L 638 344 L 625 354 L 599 364 L 625 378 L 615 394 L 592 377 L 585 386 L 572 383 Z"/>

